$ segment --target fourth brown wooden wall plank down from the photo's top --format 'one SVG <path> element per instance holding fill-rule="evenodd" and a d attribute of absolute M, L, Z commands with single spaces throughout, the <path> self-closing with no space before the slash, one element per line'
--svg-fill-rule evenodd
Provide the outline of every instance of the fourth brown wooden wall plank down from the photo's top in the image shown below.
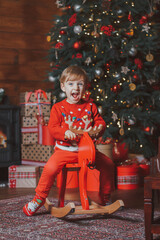
<path fill-rule="evenodd" d="M 2 49 L 0 48 L 0 65 L 27 64 L 44 65 L 49 67 L 46 59 L 48 52 L 46 50 L 25 50 L 25 49 Z"/>

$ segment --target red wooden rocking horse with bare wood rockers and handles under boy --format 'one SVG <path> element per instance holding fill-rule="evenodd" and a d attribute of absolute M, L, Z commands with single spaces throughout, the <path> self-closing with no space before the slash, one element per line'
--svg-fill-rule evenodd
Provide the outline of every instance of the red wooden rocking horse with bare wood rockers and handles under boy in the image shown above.
<path fill-rule="evenodd" d="M 59 187 L 59 200 L 58 207 L 52 206 L 49 199 L 46 199 L 45 208 L 47 211 L 51 212 L 51 215 L 57 218 L 64 218 L 68 214 L 112 214 L 119 208 L 124 206 L 122 200 L 117 200 L 109 206 L 101 206 L 95 202 L 91 202 L 89 205 L 87 197 L 87 169 L 88 167 L 94 168 L 95 163 L 95 146 L 89 135 L 96 134 L 101 131 L 101 129 L 90 130 L 89 132 L 84 132 L 76 128 L 70 128 L 74 133 L 81 135 L 79 142 L 78 151 L 78 163 L 68 163 L 62 169 L 60 187 Z M 81 206 L 75 206 L 73 202 L 68 203 L 64 206 L 64 195 L 66 188 L 67 171 L 78 171 L 79 172 L 79 191 Z"/>

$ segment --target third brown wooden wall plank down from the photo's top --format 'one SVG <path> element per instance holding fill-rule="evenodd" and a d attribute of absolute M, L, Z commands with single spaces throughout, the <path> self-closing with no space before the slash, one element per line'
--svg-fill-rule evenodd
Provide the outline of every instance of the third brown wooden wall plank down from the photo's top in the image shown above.
<path fill-rule="evenodd" d="M 49 49 L 46 36 L 41 34 L 6 33 L 1 32 L 0 48 Z"/>

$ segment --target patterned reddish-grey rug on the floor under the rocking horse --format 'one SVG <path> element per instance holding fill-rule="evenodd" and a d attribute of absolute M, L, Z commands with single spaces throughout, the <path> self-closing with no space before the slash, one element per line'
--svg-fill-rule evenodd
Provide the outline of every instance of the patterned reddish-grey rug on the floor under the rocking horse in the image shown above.
<path fill-rule="evenodd" d="M 112 215 L 69 215 L 57 219 L 42 207 L 35 216 L 27 217 L 22 208 L 32 198 L 29 195 L 0 201 L 0 239 L 145 239 L 143 210 L 123 209 Z M 57 205 L 56 199 L 52 202 Z"/>

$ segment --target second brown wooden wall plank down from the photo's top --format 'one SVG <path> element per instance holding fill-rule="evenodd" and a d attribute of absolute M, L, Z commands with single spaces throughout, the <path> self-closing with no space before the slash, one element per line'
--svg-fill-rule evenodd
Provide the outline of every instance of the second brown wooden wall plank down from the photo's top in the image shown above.
<path fill-rule="evenodd" d="M 1 16 L 0 17 L 0 31 L 3 32 L 17 32 L 17 33 L 33 33 L 41 35 L 47 34 L 52 25 L 51 22 L 47 20 L 39 20 L 34 19 L 32 16 L 28 18 L 28 16 L 24 18 L 16 18 L 16 17 L 8 17 Z"/>

